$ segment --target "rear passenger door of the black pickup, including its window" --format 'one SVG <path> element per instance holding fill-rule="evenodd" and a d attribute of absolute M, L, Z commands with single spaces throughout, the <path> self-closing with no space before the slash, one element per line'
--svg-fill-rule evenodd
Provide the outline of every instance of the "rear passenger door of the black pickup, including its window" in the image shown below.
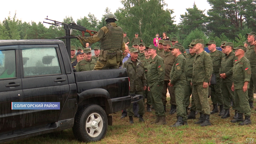
<path fill-rule="evenodd" d="M 42 127 L 58 121 L 69 93 L 68 78 L 58 45 L 24 45 L 21 70 L 24 102 L 60 102 L 60 110 L 24 110 L 24 128 Z"/>

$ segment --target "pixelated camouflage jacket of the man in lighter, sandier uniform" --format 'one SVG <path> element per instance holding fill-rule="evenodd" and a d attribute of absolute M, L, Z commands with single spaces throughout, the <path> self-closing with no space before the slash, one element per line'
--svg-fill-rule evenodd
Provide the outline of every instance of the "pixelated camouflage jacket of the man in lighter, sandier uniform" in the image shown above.
<path fill-rule="evenodd" d="M 196 55 L 193 63 L 193 76 L 191 82 L 193 85 L 200 85 L 203 82 L 210 82 L 213 72 L 212 58 L 211 56 L 203 51 Z"/>

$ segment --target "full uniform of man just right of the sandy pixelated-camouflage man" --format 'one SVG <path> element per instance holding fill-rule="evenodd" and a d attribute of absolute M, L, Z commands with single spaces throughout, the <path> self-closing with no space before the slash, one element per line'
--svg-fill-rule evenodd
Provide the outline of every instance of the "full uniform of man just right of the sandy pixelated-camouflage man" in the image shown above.
<path fill-rule="evenodd" d="M 219 106 L 223 105 L 223 97 L 222 97 L 222 80 L 219 76 L 219 68 L 221 67 L 221 61 L 224 57 L 224 54 L 221 51 L 210 52 L 212 56 L 212 66 L 213 73 L 215 74 L 216 85 L 210 85 L 211 88 L 211 99 L 213 104 L 218 104 Z"/>

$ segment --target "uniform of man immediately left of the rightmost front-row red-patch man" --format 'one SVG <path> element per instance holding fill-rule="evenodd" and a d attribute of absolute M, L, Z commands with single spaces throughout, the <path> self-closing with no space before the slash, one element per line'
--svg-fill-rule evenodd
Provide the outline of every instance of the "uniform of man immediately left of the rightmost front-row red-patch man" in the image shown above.
<path fill-rule="evenodd" d="M 234 92 L 231 90 L 233 83 L 233 65 L 235 61 L 237 61 L 237 57 L 235 56 L 234 52 L 230 52 L 228 55 L 225 54 L 221 61 L 221 68 L 219 73 L 225 73 L 227 76 L 222 80 L 224 109 L 230 109 L 230 99 L 232 99 L 232 109 L 236 110 L 236 100 L 234 99 Z"/>

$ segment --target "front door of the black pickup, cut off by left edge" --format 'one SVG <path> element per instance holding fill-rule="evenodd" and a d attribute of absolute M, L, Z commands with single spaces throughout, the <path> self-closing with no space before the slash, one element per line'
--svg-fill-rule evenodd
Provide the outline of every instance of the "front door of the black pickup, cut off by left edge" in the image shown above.
<path fill-rule="evenodd" d="M 12 110 L 12 102 L 22 102 L 17 46 L 1 46 L 0 49 L 0 134 L 23 128 L 23 111 Z"/>

